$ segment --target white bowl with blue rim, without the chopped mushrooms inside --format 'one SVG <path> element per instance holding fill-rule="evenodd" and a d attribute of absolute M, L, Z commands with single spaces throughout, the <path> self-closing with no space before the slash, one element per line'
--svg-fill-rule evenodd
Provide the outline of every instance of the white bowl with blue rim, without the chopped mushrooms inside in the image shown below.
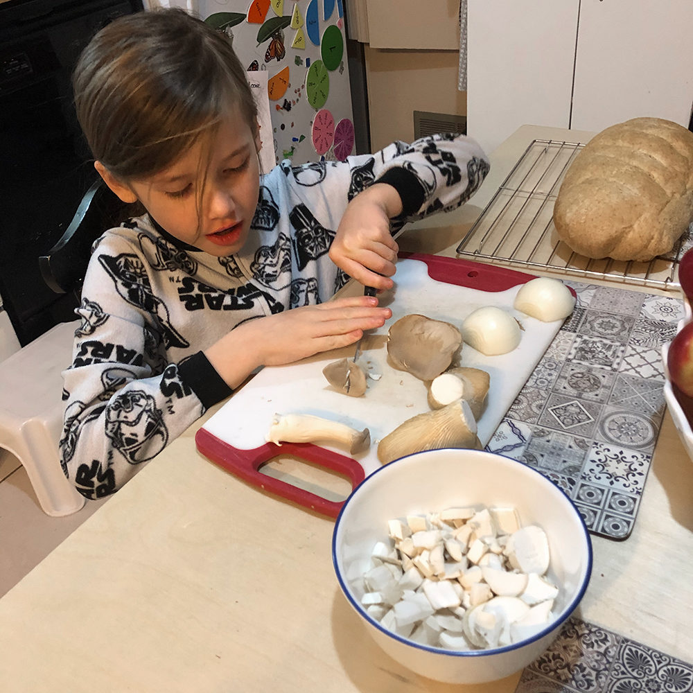
<path fill-rule="evenodd" d="M 536 524 L 547 534 L 548 576 L 560 594 L 554 620 L 534 637 L 486 650 L 427 647 L 388 631 L 361 606 L 358 578 L 375 543 L 389 543 L 387 520 L 465 505 L 515 507 L 523 526 Z M 458 684 L 497 681 L 541 655 L 579 604 L 592 570 L 590 535 L 568 496 L 532 467 L 482 450 L 416 453 L 369 475 L 337 518 L 332 557 L 342 592 L 385 653 L 416 674 Z"/>

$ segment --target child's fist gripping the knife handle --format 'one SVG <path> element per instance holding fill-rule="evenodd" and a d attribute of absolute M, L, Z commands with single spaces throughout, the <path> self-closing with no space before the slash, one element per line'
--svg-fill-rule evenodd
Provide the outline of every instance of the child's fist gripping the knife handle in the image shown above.
<path fill-rule="evenodd" d="M 391 288 L 398 246 L 389 220 L 401 211 L 399 194 L 387 183 L 374 183 L 356 195 L 337 228 L 331 261 L 364 286 Z"/>

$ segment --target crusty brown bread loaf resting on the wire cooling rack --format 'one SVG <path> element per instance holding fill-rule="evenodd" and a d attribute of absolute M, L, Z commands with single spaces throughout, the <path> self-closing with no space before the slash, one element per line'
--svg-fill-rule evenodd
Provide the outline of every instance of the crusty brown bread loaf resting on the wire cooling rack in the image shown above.
<path fill-rule="evenodd" d="M 693 220 L 693 132 L 635 118 L 597 134 L 565 173 L 554 225 L 590 258 L 646 261 L 669 252 Z"/>

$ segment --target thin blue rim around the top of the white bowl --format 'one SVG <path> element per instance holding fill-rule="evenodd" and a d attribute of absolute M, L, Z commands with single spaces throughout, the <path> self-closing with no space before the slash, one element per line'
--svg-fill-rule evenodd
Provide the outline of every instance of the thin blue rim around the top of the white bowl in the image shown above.
<path fill-rule="evenodd" d="M 441 450 L 457 450 L 459 451 L 461 448 L 440 448 Z M 433 450 L 426 450 L 425 452 L 431 453 Z M 507 462 L 514 462 L 515 464 L 525 464 L 524 462 L 518 462 L 517 459 L 513 459 L 512 457 L 505 457 L 505 455 L 498 455 L 498 453 L 489 453 L 488 450 L 475 450 L 477 453 L 484 453 L 485 455 L 491 455 L 492 457 L 500 457 L 500 459 L 503 459 Z M 537 640 L 541 640 L 541 638 L 544 638 L 545 635 L 548 635 L 552 631 L 556 630 L 561 626 L 565 621 L 568 620 L 572 612 L 575 610 L 577 605 L 581 602 L 582 597 L 584 597 L 585 592 L 587 590 L 588 584 L 590 584 L 590 578 L 592 577 L 592 538 L 590 537 L 590 533 L 588 532 L 587 526 L 585 525 L 585 521 L 582 519 L 582 516 L 575 507 L 575 504 L 572 502 L 572 499 L 570 496 L 561 489 L 561 487 L 552 482 L 549 477 L 543 475 L 541 472 L 536 471 L 533 467 L 529 466 L 528 464 L 525 464 L 525 467 L 531 471 L 532 473 L 538 475 L 538 477 L 541 477 L 541 479 L 545 482 L 548 482 L 554 486 L 558 491 L 560 491 L 570 502 L 570 505 L 575 511 L 575 514 L 577 515 L 577 518 L 579 520 L 580 526 L 582 527 L 582 531 L 584 532 L 585 535 L 585 544 L 587 547 L 587 567 L 585 571 L 585 577 L 582 581 L 582 584 L 580 586 L 580 589 L 578 590 L 577 595 L 575 595 L 570 602 L 570 604 L 563 609 L 563 615 L 561 618 L 556 619 L 551 622 L 550 625 L 546 626 L 546 628 L 542 629 L 541 631 L 538 631 L 538 633 L 535 633 L 532 635 L 531 638 L 525 638 L 525 640 L 520 640 L 520 642 L 513 643 L 511 645 L 505 645 L 505 647 L 489 647 L 488 649 L 476 649 L 476 650 L 455 650 L 455 649 L 445 649 L 444 647 L 432 647 L 431 645 L 425 645 L 421 644 L 420 642 L 414 642 L 414 640 L 410 640 L 409 638 L 403 638 L 402 635 L 398 635 L 397 633 L 394 633 L 393 631 L 390 631 L 389 629 L 385 628 L 380 622 L 376 621 L 374 617 L 369 615 L 367 611 L 359 604 L 356 599 L 353 599 L 351 595 L 351 590 L 349 590 L 347 584 L 345 583 L 344 580 L 342 580 L 342 576 L 340 574 L 340 571 L 337 568 L 337 552 L 335 550 L 335 542 L 337 541 L 337 529 L 340 527 L 340 523 L 342 521 L 342 515 L 344 514 L 345 509 L 347 508 L 347 505 L 349 505 L 349 502 L 351 502 L 351 499 L 356 495 L 358 492 L 358 489 L 363 486 L 363 484 L 367 483 L 369 479 L 374 477 L 376 474 L 379 474 L 382 472 L 384 469 L 387 469 L 391 464 L 397 464 L 400 459 L 407 459 L 408 457 L 414 457 L 414 455 L 421 455 L 423 453 L 412 453 L 412 455 L 405 455 L 405 457 L 400 457 L 399 459 L 394 460 L 394 462 L 389 462 L 388 464 L 384 464 L 382 467 L 379 469 L 376 469 L 373 473 L 369 474 L 365 480 L 363 480 L 358 486 L 356 486 L 356 489 L 353 489 L 351 493 L 349 494 L 349 497 L 347 500 L 344 501 L 344 504 L 342 505 L 342 509 L 340 510 L 340 514 L 337 516 L 337 520 L 335 521 L 335 528 L 333 529 L 332 533 L 332 565 L 335 570 L 335 575 L 337 576 L 337 582 L 340 584 L 340 589 L 342 590 L 342 593 L 344 594 L 345 597 L 351 602 L 351 605 L 353 608 L 356 609 L 357 613 L 360 613 L 362 617 L 365 618 L 372 626 L 374 626 L 376 629 L 378 629 L 381 633 L 385 633 L 389 638 L 392 638 L 393 640 L 398 640 L 398 642 L 401 642 L 405 645 L 409 645 L 410 647 L 415 647 L 416 649 L 420 649 L 426 652 L 430 652 L 433 654 L 444 654 L 444 655 L 450 655 L 453 657 L 486 657 L 492 654 L 500 654 L 504 652 L 511 652 L 516 649 L 520 649 L 521 647 L 526 647 L 528 644 L 531 644 L 532 642 L 536 642 Z"/>

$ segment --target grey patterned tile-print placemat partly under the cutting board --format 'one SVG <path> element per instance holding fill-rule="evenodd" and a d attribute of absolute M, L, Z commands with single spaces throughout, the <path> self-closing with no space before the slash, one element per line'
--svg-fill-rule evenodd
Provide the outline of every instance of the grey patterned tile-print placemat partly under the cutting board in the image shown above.
<path fill-rule="evenodd" d="M 593 534 L 625 539 L 665 412 L 661 347 L 683 301 L 566 281 L 577 305 L 486 450 L 536 468 Z"/>

